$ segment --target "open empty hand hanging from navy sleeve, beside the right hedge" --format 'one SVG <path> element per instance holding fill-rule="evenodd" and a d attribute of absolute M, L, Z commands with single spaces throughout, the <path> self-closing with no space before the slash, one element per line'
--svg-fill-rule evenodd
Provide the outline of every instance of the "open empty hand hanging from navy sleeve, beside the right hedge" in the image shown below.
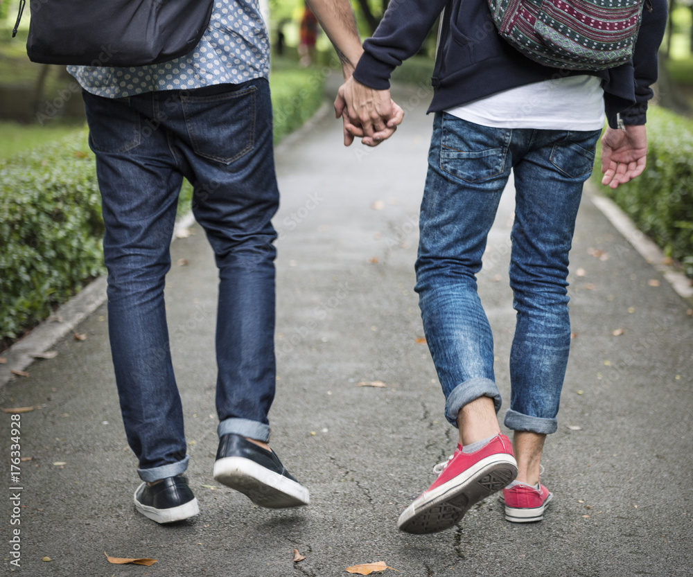
<path fill-rule="evenodd" d="M 629 125 L 625 132 L 607 127 L 602 136 L 602 184 L 618 188 L 642 173 L 647 159 L 644 125 Z"/>

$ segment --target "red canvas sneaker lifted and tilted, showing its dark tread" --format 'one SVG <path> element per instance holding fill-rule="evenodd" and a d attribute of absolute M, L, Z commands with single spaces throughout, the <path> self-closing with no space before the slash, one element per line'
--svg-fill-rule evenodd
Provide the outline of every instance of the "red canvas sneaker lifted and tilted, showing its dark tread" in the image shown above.
<path fill-rule="evenodd" d="M 441 465 L 435 472 L 439 472 Z M 463 453 L 457 445 L 435 483 L 403 511 L 397 526 L 407 533 L 419 534 L 448 529 L 471 506 L 500 491 L 517 474 L 512 445 L 504 434 L 499 433 L 473 453 Z"/>

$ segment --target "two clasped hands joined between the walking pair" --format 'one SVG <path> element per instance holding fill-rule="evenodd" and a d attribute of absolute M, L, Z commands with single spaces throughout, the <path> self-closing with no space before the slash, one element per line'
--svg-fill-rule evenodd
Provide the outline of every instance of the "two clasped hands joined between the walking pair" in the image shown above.
<path fill-rule="evenodd" d="M 377 146 L 389 139 L 404 118 L 404 111 L 389 90 L 376 90 L 349 77 L 335 99 L 335 117 L 344 120 L 344 145 L 359 137 L 367 146 Z"/>

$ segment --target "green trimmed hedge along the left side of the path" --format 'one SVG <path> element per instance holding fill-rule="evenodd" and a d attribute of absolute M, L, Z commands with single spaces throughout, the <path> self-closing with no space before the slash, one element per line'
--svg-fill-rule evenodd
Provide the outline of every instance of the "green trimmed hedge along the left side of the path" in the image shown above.
<path fill-rule="evenodd" d="M 322 103 L 315 69 L 270 76 L 274 141 Z M 191 202 L 186 182 L 179 214 Z M 87 131 L 0 161 L 0 348 L 104 272 L 103 220 Z"/>

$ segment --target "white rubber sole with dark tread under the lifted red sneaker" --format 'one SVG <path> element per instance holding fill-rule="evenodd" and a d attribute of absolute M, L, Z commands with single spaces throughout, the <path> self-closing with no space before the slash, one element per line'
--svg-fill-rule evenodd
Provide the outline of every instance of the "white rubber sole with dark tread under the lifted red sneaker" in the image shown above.
<path fill-rule="evenodd" d="M 489 455 L 433 490 L 423 492 L 399 516 L 397 526 L 407 533 L 449 529 L 471 506 L 507 486 L 518 474 L 509 454 Z"/>

